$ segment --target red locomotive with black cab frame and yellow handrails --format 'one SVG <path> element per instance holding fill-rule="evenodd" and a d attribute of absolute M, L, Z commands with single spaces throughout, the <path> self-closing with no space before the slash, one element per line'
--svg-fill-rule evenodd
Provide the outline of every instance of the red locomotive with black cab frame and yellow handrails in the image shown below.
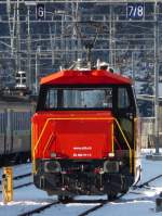
<path fill-rule="evenodd" d="M 140 176 L 131 79 L 106 67 L 41 79 L 32 117 L 35 185 L 59 200 L 125 193 Z"/>

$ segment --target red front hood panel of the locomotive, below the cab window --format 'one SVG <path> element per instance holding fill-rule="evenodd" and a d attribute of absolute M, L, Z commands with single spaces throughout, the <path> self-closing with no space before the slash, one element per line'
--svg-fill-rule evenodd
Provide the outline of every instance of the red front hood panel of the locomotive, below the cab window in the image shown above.
<path fill-rule="evenodd" d="M 60 158 L 103 158 L 112 151 L 113 119 L 108 111 L 40 112 L 32 124 L 36 158 L 50 158 L 51 152 Z"/>

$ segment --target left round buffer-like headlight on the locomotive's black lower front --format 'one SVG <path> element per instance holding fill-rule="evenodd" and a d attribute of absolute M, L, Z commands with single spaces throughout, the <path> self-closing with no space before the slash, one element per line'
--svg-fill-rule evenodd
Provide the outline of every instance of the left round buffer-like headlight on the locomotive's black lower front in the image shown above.
<path fill-rule="evenodd" d="M 44 163 L 44 171 L 46 173 L 59 173 L 60 170 L 60 164 L 57 161 L 48 161 Z"/>

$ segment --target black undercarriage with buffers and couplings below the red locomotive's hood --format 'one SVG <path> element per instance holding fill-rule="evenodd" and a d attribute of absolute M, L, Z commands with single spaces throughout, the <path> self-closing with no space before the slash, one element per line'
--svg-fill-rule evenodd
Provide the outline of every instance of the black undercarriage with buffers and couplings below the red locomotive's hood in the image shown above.
<path fill-rule="evenodd" d="M 121 161 L 37 160 L 37 167 L 35 185 L 50 195 L 117 195 L 134 181 L 129 165 Z"/>

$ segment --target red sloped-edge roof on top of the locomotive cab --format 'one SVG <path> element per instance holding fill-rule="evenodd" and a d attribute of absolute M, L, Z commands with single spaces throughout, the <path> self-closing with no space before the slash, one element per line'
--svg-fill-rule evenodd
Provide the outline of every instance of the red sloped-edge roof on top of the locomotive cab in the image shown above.
<path fill-rule="evenodd" d="M 106 85 L 132 84 L 130 78 L 105 69 L 73 71 L 65 69 L 41 78 L 41 85 Z"/>

